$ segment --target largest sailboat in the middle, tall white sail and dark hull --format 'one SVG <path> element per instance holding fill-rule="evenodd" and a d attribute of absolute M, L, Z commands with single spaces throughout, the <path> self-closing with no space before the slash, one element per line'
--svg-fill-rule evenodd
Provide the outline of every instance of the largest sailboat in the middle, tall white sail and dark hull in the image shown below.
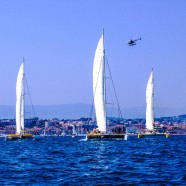
<path fill-rule="evenodd" d="M 97 129 L 87 133 L 87 139 L 124 138 L 124 133 L 114 134 L 107 131 L 106 80 L 105 80 L 104 31 L 99 39 L 93 63 L 93 97 Z"/>

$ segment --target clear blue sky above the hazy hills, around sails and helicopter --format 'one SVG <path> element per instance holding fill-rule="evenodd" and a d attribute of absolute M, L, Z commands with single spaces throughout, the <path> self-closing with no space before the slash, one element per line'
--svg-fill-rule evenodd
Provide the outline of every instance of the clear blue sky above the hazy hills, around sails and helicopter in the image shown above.
<path fill-rule="evenodd" d="M 186 108 L 185 0 L 0 0 L 0 105 L 15 104 L 23 57 L 35 105 L 91 104 L 103 28 L 122 108 L 145 106 L 152 67 L 159 105 Z"/>

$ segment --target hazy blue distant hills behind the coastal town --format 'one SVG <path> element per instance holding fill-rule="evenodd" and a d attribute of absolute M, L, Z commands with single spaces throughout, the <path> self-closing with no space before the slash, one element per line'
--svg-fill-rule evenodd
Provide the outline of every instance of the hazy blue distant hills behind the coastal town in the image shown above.
<path fill-rule="evenodd" d="M 64 105 L 36 105 L 34 106 L 35 116 L 40 119 L 78 119 L 91 116 L 90 104 L 64 104 Z M 145 118 L 145 107 L 122 108 L 123 118 Z M 178 116 L 186 113 L 186 108 L 155 108 L 155 117 Z M 26 106 L 26 118 L 33 117 L 32 108 Z M 93 112 L 92 116 L 95 114 Z M 118 117 L 117 109 L 108 109 L 108 116 Z M 15 106 L 1 105 L 0 119 L 14 119 Z"/>

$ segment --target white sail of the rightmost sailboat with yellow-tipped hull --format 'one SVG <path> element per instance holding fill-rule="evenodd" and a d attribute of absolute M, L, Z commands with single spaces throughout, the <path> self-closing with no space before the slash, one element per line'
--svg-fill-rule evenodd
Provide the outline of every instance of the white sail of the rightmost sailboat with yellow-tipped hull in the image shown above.
<path fill-rule="evenodd" d="M 154 75 L 150 74 L 146 87 L 146 128 L 154 130 Z"/>

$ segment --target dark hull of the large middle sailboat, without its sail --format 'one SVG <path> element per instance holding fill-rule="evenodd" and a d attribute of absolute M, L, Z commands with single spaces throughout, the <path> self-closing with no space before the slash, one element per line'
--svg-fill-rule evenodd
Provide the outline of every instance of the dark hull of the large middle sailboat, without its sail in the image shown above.
<path fill-rule="evenodd" d="M 88 134 L 87 139 L 124 139 L 125 134 Z"/>

